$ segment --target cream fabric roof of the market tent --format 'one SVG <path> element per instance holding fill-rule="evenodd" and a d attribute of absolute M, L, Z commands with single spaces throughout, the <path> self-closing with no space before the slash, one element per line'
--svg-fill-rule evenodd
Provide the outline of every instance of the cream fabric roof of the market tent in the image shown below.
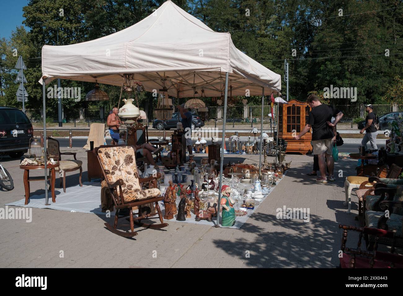
<path fill-rule="evenodd" d="M 225 72 L 233 95 L 279 92 L 280 75 L 238 50 L 230 33 L 218 33 L 172 1 L 135 25 L 95 40 L 42 48 L 45 83 L 60 79 L 121 86 L 134 73 L 147 91 L 162 88 L 174 97 L 224 92 Z M 199 92 L 200 93 L 200 92 Z"/>

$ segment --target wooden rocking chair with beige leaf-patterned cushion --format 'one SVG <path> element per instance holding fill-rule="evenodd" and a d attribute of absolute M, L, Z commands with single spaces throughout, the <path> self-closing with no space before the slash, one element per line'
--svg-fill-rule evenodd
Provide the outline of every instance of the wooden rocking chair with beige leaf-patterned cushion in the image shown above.
<path fill-rule="evenodd" d="M 159 173 L 157 177 L 139 178 L 135 159 L 136 149 L 134 146 L 100 146 L 94 149 L 94 153 L 98 157 L 102 174 L 104 175 L 116 209 L 113 226 L 105 223 L 105 226 L 111 232 L 124 237 L 133 237 L 137 235 L 137 232 L 134 231 L 134 224 L 152 229 L 168 226 L 167 223 L 163 223 L 161 209 L 158 205 L 158 202 L 164 199 L 156 184 Z M 145 183 L 149 184 L 148 189 L 142 188 L 141 184 Z M 152 210 L 151 213 L 144 214 L 141 206 L 150 203 L 155 203 L 156 211 Z M 133 217 L 133 207 L 139 207 L 139 212 L 135 213 L 138 217 Z M 119 217 L 119 210 L 125 208 L 129 209 L 131 232 L 116 229 L 118 219 L 127 216 Z M 160 224 L 141 223 L 142 219 L 148 219 L 156 214 L 158 214 Z"/>

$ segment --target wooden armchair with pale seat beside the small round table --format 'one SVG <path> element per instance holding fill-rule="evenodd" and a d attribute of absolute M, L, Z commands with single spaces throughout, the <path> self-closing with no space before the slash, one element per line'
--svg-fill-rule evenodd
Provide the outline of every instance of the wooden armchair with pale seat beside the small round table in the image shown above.
<path fill-rule="evenodd" d="M 50 157 L 58 157 L 59 167 L 55 170 L 59 172 L 60 187 L 62 186 L 63 180 L 63 191 L 66 192 L 66 172 L 74 172 L 80 170 L 79 183 L 82 187 L 81 177 L 83 175 L 83 161 L 78 160 L 76 157 L 76 152 L 60 152 L 59 141 L 51 137 L 46 137 L 48 147 L 46 149 L 47 154 Z M 62 160 L 62 155 L 73 155 L 74 159 L 64 159 Z M 56 160 L 56 159 L 55 159 Z"/>

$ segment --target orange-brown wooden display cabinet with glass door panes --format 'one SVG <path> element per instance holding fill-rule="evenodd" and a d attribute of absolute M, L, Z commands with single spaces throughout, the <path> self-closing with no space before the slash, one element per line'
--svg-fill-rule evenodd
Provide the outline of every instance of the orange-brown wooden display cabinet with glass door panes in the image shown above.
<path fill-rule="evenodd" d="M 307 124 L 310 111 L 308 103 L 297 100 L 291 100 L 288 104 L 279 104 L 278 137 L 288 142 L 286 152 L 306 154 L 312 150 L 312 133 L 310 131 L 299 140 L 293 138 L 293 135 L 298 135 Z"/>

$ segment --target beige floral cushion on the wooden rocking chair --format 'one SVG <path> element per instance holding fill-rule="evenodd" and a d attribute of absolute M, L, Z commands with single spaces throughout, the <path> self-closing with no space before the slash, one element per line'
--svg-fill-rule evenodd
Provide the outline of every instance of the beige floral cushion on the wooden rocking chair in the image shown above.
<path fill-rule="evenodd" d="M 143 199 L 159 197 L 158 188 L 142 189 L 136 166 L 136 151 L 131 146 L 101 147 L 98 149 L 102 169 L 109 183 L 123 180 L 123 201 L 130 203 Z"/>

